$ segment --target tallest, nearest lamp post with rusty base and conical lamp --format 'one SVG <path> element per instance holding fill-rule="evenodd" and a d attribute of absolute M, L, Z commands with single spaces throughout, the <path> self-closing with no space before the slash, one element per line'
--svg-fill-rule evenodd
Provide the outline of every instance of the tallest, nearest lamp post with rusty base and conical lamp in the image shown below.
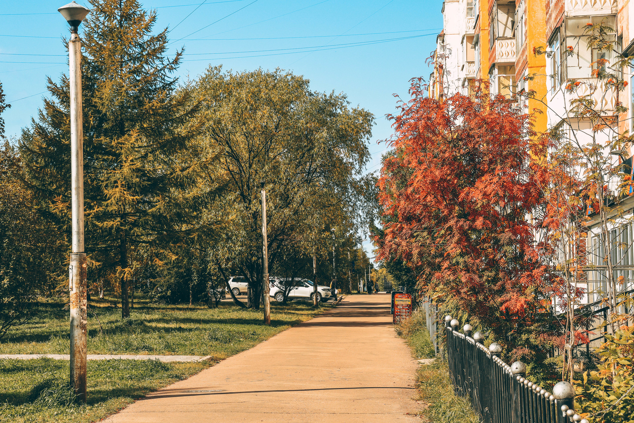
<path fill-rule="evenodd" d="M 84 6 L 68 3 L 58 9 L 70 25 L 70 168 L 72 196 L 72 252 L 68 269 L 70 290 L 70 384 L 86 401 L 87 300 L 86 252 L 84 251 L 84 132 L 81 96 L 81 39 L 77 29 L 88 14 Z"/>

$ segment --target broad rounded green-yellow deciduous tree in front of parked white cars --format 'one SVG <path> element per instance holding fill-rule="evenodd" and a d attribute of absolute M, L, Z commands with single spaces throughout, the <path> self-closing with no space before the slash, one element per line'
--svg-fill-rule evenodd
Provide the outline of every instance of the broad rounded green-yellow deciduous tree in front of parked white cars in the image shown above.
<path fill-rule="evenodd" d="M 249 305 L 257 308 L 260 182 L 268 198 L 269 263 L 288 257 L 290 246 L 304 257 L 330 247 L 325 229 L 367 223 L 372 190 L 361 169 L 370 157 L 373 115 L 350 108 L 342 94 L 314 93 L 307 79 L 281 70 L 232 74 L 211 67 L 195 90 L 204 101 L 201 144 L 219 157 L 217 179 L 226 180 L 210 214 L 233 218 L 215 257 L 249 280 Z"/>

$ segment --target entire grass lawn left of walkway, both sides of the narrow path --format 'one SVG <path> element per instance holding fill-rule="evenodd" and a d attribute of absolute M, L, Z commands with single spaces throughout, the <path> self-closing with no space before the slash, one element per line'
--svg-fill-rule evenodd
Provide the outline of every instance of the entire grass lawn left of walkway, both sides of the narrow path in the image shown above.
<path fill-rule="evenodd" d="M 120 308 L 91 301 L 88 313 L 89 354 L 212 356 L 204 363 L 152 360 L 88 362 L 85 405 L 68 401 L 68 361 L 0 360 L 0 422 L 94 422 L 145 394 L 186 379 L 219 360 L 249 349 L 282 330 L 309 320 L 330 304 L 313 309 L 307 301 L 271 304 L 271 326 L 262 310 L 233 303 L 170 306 L 135 300 L 130 318 Z M 100 323 L 101 322 L 101 327 Z M 27 324 L 10 332 L 0 354 L 68 354 L 68 311 L 64 304 L 44 303 Z M 48 387 L 48 389 L 43 389 Z M 41 391 L 41 393 L 40 393 Z"/>

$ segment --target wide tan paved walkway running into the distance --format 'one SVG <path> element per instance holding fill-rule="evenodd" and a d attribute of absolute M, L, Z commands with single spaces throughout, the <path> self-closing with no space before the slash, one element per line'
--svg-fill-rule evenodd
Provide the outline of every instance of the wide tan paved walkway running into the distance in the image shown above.
<path fill-rule="evenodd" d="M 418 366 L 396 337 L 388 295 L 348 296 L 199 374 L 136 401 L 109 423 L 420 421 Z"/>

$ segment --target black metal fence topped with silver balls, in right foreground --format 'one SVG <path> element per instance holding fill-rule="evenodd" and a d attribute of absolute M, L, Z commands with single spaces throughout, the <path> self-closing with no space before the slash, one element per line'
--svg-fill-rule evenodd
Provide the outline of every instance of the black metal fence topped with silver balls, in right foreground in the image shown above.
<path fill-rule="evenodd" d="M 588 423 L 574 412 L 574 387 L 559 382 L 553 393 L 526 379 L 526 365 L 507 365 L 502 348 L 486 348 L 484 335 L 467 323 L 458 332 L 458 320 L 445 317 L 447 359 L 455 393 L 469 397 L 484 423 Z"/>

